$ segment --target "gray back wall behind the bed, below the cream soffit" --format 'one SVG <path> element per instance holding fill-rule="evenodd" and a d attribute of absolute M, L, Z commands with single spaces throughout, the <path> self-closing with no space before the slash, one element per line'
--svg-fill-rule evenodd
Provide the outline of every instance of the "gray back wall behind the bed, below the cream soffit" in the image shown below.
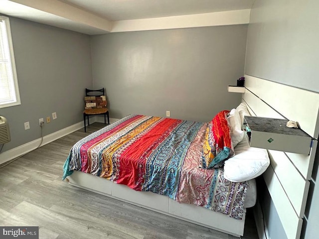
<path fill-rule="evenodd" d="M 93 84 L 110 117 L 209 121 L 240 103 L 228 93 L 244 73 L 247 25 L 111 33 L 91 37 Z"/>

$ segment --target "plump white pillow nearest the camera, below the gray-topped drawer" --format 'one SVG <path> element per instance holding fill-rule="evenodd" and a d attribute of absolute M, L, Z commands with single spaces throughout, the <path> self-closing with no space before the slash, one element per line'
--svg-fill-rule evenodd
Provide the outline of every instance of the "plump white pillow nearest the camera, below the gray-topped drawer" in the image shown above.
<path fill-rule="evenodd" d="M 263 148 L 249 147 L 246 137 L 234 148 L 235 156 L 224 164 L 224 178 L 243 182 L 258 177 L 270 164 L 268 152 Z"/>

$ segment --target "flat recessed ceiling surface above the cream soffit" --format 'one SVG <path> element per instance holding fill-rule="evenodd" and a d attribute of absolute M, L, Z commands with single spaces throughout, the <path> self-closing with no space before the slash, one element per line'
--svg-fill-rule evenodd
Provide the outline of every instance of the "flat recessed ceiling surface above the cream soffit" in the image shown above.
<path fill-rule="evenodd" d="M 253 0 L 61 0 L 111 21 L 249 9 Z"/>

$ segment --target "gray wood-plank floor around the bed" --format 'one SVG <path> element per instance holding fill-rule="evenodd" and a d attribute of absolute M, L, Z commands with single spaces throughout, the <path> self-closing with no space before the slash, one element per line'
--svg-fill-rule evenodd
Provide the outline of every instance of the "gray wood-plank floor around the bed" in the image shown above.
<path fill-rule="evenodd" d="M 71 146 L 93 123 L 0 168 L 0 226 L 39 226 L 40 239 L 236 239 L 62 181 Z M 258 239 L 251 210 L 245 235 Z"/>

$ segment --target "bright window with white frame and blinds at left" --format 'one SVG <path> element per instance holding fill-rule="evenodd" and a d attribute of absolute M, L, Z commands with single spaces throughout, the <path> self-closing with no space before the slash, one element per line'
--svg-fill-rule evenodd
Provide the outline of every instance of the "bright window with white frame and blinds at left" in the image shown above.
<path fill-rule="evenodd" d="M 0 108 L 20 105 L 9 18 L 0 16 Z"/>

